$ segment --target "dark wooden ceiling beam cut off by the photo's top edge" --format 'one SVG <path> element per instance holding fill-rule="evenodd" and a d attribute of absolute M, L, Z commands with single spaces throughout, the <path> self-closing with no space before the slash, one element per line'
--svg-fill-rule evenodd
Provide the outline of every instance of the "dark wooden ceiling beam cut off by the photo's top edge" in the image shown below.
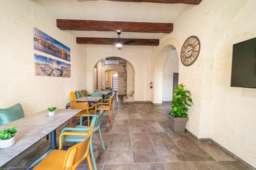
<path fill-rule="evenodd" d="M 203 0 L 108 0 L 108 1 L 199 5 L 201 3 L 201 1 L 203 1 Z"/>

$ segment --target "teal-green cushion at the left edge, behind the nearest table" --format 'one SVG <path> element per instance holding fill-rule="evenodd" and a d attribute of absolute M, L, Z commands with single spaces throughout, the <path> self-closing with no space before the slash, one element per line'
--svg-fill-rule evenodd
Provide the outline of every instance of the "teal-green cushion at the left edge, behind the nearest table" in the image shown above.
<path fill-rule="evenodd" d="M 22 109 L 22 105 L 20 105 L 19 103 L 6 109 L 0 109 L 0 126 L 23 117 L 24 112 Z"/>

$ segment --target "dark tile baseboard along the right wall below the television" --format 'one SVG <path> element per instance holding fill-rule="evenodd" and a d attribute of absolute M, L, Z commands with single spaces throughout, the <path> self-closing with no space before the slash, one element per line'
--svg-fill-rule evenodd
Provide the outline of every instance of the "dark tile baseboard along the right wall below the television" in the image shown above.
<path fill-rule="evenodd" d="M 220 143 L 216 142 L 215 140 L 212 140 L 211 138 L 198 138 L 196 135 L 194 135 L 193 133 L 191 133 L 189 130 L 185 129 L 185 132 L 194 140 L 196 140 L 197 142 L 208 142 L 211 143 L 213 145 L 215 145 L 215 147 L 217 147 L 219 150 L 225 152 L 227 155 L 229 155 L 231 158 L 233 158 L 235 161 L 237 161 L 238 163 L 240 163 L 241 165 L 243 165 L 245 168 L 247 168 L 248 170 L 256 170 L 256 167 L 253 167 L 252 165 L 250 165 L 249 163 L 247 163 L 246 161 L 244 161 L 243 159 L 241 159 L 240 157 L 238 157 L 236 154 L 232 153 L 231 151 L 229 151 L 228 149 L 226 149 L 225 147 L 223 147 Z"/>

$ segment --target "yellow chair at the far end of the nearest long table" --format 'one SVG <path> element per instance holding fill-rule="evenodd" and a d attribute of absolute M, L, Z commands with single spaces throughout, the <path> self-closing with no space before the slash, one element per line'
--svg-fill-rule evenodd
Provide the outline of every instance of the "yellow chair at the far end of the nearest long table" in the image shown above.
<path fill-rule="evenodd" d="M 92 108 L 95 109 L 93 110 Z M 77 103 L 77 102 L 70 102 L 70 109 L 83 109 L 81 112 L 75 115 L 75 117 L 80 117 L 83 114 L 95 114 L 97 111 L 97 106 L 93 105 L 92 107 L 89 107 L 88 102 L 83 103 Z M 88 126 L 90 125 L 90 117 L 88 116 Z M 69 122 L 69 127 L 72 126 L 72 118 Z"/>

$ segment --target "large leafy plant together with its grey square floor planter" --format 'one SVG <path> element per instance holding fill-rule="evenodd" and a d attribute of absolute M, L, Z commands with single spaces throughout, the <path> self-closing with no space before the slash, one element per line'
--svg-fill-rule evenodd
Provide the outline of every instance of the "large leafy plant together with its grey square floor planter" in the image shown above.
<path fill-rule="evenodd" d="M 190 104 L 193 104 L 193 101 L 190 98 L 190 91 L 184 90 L 183 84 L 178 85 L 174 91 L 176 93 L 173 93 L 173 100 L 170 102 L 172 110 L 168 113 L 170 129 L 174 132 L 184 132 L 188 120 L 188 106 L 191 106 Z"/>

